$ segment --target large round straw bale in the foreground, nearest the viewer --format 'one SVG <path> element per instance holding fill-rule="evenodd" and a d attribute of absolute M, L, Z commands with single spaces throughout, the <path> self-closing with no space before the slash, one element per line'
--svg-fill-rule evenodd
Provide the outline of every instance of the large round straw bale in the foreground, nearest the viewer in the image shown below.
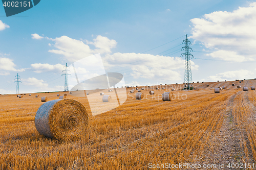
<path fill-rule="evenodd" d="M 49 138 L 78 138 L 87 131 L 88 113 L 86 108 L 75 100 L 49 101 L 37 110 L 35 127 L 41 135 Z"/>

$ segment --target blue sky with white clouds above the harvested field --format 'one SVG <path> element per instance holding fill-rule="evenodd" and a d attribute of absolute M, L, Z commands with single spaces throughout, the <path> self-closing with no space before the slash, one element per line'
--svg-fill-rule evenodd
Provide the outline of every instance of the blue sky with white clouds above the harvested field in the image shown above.
<path fill-rule="evenodd" d="M 1 7 L 0 93 L 16 92 L 17 73 L 22 93 L 62 90 L 62 66 L 96 53 L 126 85 L 182 83 L 185 34 L 201 58 L 193 81 L 253 79 L 254 2 L 42 0 L 10 17 Z"/>

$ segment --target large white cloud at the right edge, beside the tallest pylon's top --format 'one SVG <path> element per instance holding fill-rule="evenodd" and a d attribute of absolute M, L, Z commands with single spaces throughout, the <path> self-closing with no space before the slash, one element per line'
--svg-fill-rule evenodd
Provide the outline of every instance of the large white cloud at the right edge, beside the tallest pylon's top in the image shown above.
<path fill-rule="evenodd" d="M 232 12 L 212 12 L 190 21 L 193 36 L 189 38 L 216 51 L 208 56 L 232 61 L 256 59 L 253 55 L 256 53 L 256 3 Z"/>

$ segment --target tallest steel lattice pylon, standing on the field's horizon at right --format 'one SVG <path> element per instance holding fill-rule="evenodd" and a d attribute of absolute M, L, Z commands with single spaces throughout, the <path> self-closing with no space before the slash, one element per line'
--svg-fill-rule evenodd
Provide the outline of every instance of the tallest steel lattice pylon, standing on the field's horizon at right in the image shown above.
<path fill-rule="evenodd" d="M 185 51 L 185 53 L 181 54 L 181 57 L 185 57 L 184 84 L 185 84 L 185 87 L 188 87 L 188 89 L 190 89 L 190 87 L 193 87 L 192 72 L 191 72 L 191 66 L 190 66 L 190 56 L 191 56 L 191 59 L 194 58 L 194 56 L 190 54 L 190 52 L 193 52 L 193 50 L 191 47 L 189 47 L 191 42 L 187 39 L 187 34 L 186 34 L 186 39 L 183 40 L 182 44 L 185 44 L 185 46 L 183 46 L 181 49 Z"/>

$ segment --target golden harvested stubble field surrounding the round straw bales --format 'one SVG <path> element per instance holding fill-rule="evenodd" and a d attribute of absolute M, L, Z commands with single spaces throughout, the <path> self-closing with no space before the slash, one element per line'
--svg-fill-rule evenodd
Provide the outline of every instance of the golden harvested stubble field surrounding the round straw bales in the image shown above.
<path fill-rule="evenodd" d="M 176 98 L 171 102 L 163 102 L 161 94 L 181 84 L 168 85 L 166 90 L 152 86 L 155 94 L 144 100 L 135 100 L 136 91 L 129 93 L 133 88 L 127 88 L 126 102 L 103 114 L 89 114 L 87 133 L 75 141 L 45 138 L 34 125 L 41 96 L 55 100 L 57 93 L 65 92 L 36 93 L 39 98 L 27 94 L 22 99 L 0 95 L 0 169 L 150 169 L 149 163 L 254 163 L 256 92 L 237 89 L 237 85 L 256 86 L 256 80 L 194 85 L 196 90 L 174 91 Z M 214 88 L 222 86 L 227 89 L 214 93 Z M 148 94 L 149 90 L 142 92 Z M 67 99 L 88 107 L 86 99 L 67 94 Z"/>

